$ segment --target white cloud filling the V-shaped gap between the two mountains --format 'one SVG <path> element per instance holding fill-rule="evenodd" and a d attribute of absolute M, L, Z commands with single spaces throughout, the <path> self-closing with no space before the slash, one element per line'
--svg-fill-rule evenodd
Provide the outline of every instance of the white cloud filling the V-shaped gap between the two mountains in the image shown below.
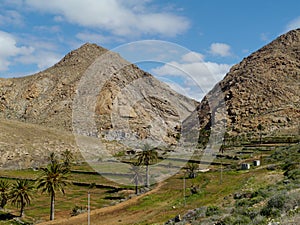
<path fill-rule="evenodd" d="M 200 54 L 201 55 L 201 54 Z M 201 100 L 214 85 L 223 79 L 231 65 L 214 62 L 170 62 L 151 70 L 154 75 L 165 76 L 178 80 L 180 87 L 170 85 L 181 94 L 187 94 L 196 100 Z M 171 78 L 173 77 L 173 78 Z M 180 79 L 176 79 L 180 78 Z M 178 83 L 177 82 L 177 83 Z"/>

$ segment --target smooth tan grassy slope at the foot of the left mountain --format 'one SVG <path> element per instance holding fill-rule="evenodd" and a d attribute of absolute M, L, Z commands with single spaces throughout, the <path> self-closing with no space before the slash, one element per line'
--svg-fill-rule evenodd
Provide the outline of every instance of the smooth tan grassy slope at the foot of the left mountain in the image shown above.
<path fill-rule="evenodd" d="M 79 156 L 70 132 L 3 119 L 0 119 L 0 130 L 1 169 L 39 167 L 48 161 L 52 151 L 70 149 Z"/>

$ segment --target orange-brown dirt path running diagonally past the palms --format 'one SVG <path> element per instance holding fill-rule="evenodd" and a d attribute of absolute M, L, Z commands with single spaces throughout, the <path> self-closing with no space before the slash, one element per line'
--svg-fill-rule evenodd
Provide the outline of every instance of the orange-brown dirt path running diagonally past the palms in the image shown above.
<path fill-rule="evenodd" d="M 130 206 L 136 205 L 138 200 L 147 195 L 157 192 L 163 185 L 159 183 L 154 189 L 148 191 L 142 195 L 133 197 L 127 201 L 119 203 L 117 205 L 104 207 L 101 209 L 95 209 L 91 211 L 91 224 L 92 225 L 114 225 L 114 224 L 133 224 L 136 218 L 142 215 L 141 212 L 127 211 Z M 145 214 L 147 212 L 142 212 Z M 149 212 L 150 213 L 150 212 Z M 44 223 L 39 223 L 39 225 L 83 225 L 87 224 L 87 213 L 80 214 L 68 219 L 54 220 Z"/>

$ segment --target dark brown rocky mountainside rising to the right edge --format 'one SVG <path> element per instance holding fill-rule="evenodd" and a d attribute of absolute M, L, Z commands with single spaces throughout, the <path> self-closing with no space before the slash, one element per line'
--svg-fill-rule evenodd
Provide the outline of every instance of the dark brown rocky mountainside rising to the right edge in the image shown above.
<path fill-rule="evenodd" d="M 221 89 L 220 93 L 218 90 Z M 224 99 L 229 135 L 297 134 L 300 121 L 300 29 L 290 31 L 233 66 L 198 107 L 209 125 L 208 99 Z M 211 107 L 212 112 L 218 107 Z"/>

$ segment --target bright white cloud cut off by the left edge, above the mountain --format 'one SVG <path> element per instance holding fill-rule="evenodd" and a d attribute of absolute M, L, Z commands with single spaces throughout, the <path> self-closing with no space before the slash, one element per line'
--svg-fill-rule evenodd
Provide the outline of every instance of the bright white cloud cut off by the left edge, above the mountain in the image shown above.
<path fill-rule="evenodd" d="M 25 46 L 18 47 L 16 38 L 3 31 L 0 31 L 0 43 L 0 71 L 8 70 L 12 57 L 28 55 L 34 50 Z"/>

